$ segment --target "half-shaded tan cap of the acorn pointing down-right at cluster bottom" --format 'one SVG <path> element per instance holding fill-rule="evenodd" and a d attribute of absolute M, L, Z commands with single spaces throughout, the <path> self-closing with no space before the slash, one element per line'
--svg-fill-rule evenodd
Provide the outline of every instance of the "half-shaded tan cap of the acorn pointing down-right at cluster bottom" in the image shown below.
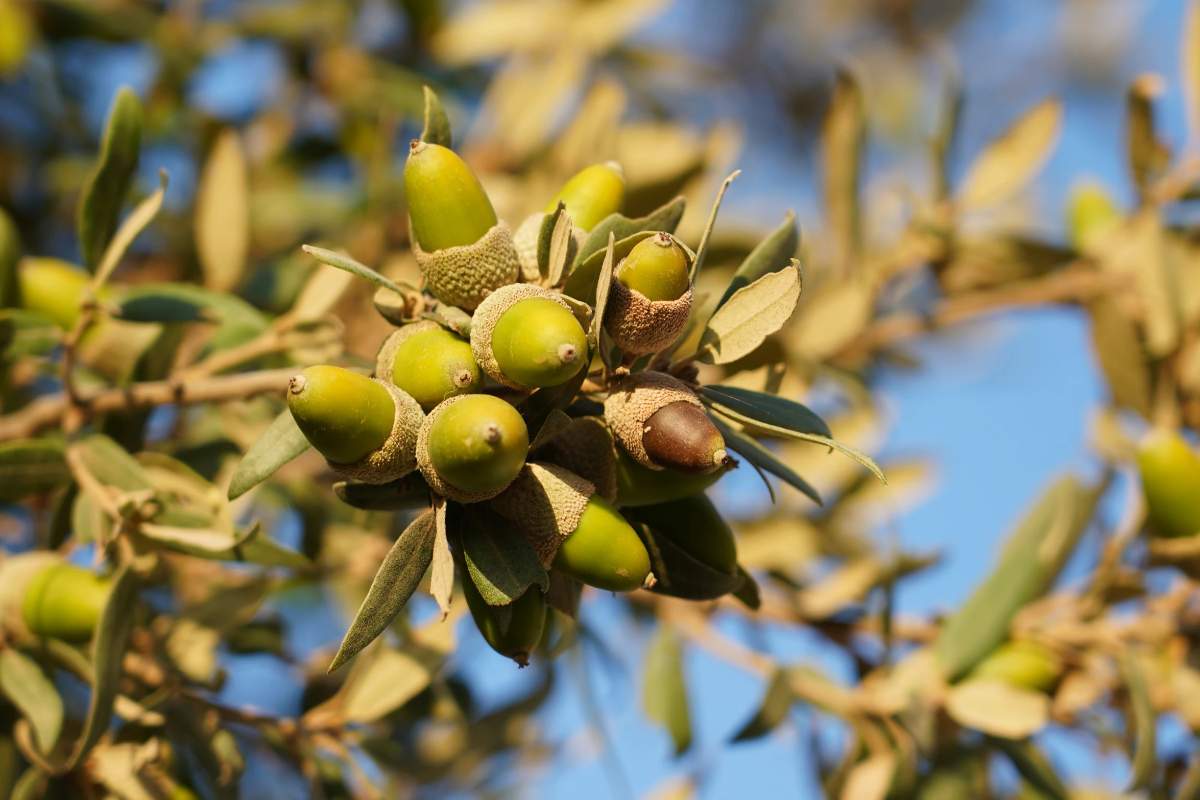
<path fill-rule="evenodd" d="M 492 500 L 492 507 L 524 533 L 541 565 L 548 570 L 558 547 L 580 527 L 593 494 L 592 482 L 569 469 L 530 462 L 509 488 Z"/>

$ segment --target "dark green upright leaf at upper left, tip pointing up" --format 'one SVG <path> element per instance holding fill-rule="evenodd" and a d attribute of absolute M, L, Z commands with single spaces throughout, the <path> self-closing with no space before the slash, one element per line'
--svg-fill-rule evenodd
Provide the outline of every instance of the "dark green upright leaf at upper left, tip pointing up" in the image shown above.
<path fill-rule="evenodd" d="M 142 148 L 142 101 L 132 89 L 122 86 L 108 110 L 96 167 L 79 198 L 79 248 L 90 272 L 100 266 L 133 182 Z"/>

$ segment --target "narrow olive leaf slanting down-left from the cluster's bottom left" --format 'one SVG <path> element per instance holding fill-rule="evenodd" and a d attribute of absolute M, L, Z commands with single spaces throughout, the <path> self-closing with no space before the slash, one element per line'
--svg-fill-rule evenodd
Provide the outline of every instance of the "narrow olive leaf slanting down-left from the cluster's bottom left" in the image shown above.
<path fill-rule="evenodd" d="M 359 607 L 359 613 L 342 639 L 342 646 L 329 664 L 329 672 L 344 664 L 391 625 L 391 620 L 416 591 L 425 570 L 433 561 L 436 536 L 433 511 L 422 513 L 400 535 L 379 565 L 366 600 Z"/>

